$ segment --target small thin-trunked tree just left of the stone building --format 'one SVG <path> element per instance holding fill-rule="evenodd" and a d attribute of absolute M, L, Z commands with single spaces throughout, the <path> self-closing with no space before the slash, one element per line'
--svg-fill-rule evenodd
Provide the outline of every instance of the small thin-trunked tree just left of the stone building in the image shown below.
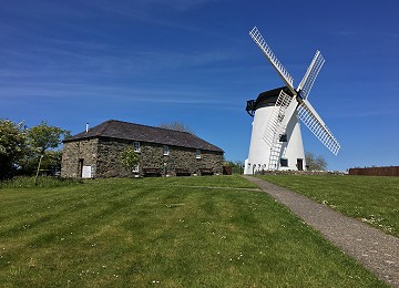
<path fill-rule="evenodd" d="M 40 125 L 33 126 L 28 131 L 28 141 L 31 146 L 33 155 L 39 158 L 35 182 L 39 175 L 40 165 L 45 156 L 45 152 L 50 148 L 57 148 L 61 143 L 61 137 L 69 137 L 70 132 L 57 126 L 49 126 L 45 121 L 42 121 Z"/>

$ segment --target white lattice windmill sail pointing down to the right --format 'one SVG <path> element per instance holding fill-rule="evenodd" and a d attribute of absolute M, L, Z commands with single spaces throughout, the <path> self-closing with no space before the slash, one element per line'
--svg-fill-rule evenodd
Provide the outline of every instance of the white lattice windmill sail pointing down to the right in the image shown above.
<path fill-rule="evenodd" d="M 309 101 L 304 100 L 298 106 L 298 116 L 313 134 L 334 154 L 337 155 L 340 148 L 338 141 L 328 130 L 321 117 L 317 114 Z"/>

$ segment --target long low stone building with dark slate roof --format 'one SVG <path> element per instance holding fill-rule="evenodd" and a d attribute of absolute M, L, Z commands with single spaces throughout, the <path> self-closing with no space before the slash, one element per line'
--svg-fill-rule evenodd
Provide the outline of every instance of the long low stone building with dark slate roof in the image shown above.
<path fill-rule="evenodd" d="M 140 155 L 133 171 L 120 162 L 129 146 Z M 187 132 L 110 120 L 63 142 L 61 176 L 222 174 L 223 154 L 219 147 Z"/>

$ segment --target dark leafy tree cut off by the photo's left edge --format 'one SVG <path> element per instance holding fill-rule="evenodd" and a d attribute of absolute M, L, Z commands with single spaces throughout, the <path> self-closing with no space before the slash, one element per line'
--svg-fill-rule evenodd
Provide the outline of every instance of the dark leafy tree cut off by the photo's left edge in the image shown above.
<path fill-rule="evenodd" d="M 27 127 L 0 120 L 0 181 L 12 177 L 27 148 Z"/>

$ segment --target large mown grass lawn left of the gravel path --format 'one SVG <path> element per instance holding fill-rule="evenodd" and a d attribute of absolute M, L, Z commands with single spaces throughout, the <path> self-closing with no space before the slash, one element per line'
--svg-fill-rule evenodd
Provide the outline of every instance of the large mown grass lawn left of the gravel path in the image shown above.
<path fill-rule="evenodd" d="M 267 194 L 235 189 L 253 187 L 239 176 L 3 187 L 1 287 L 386 287 Z"/>

